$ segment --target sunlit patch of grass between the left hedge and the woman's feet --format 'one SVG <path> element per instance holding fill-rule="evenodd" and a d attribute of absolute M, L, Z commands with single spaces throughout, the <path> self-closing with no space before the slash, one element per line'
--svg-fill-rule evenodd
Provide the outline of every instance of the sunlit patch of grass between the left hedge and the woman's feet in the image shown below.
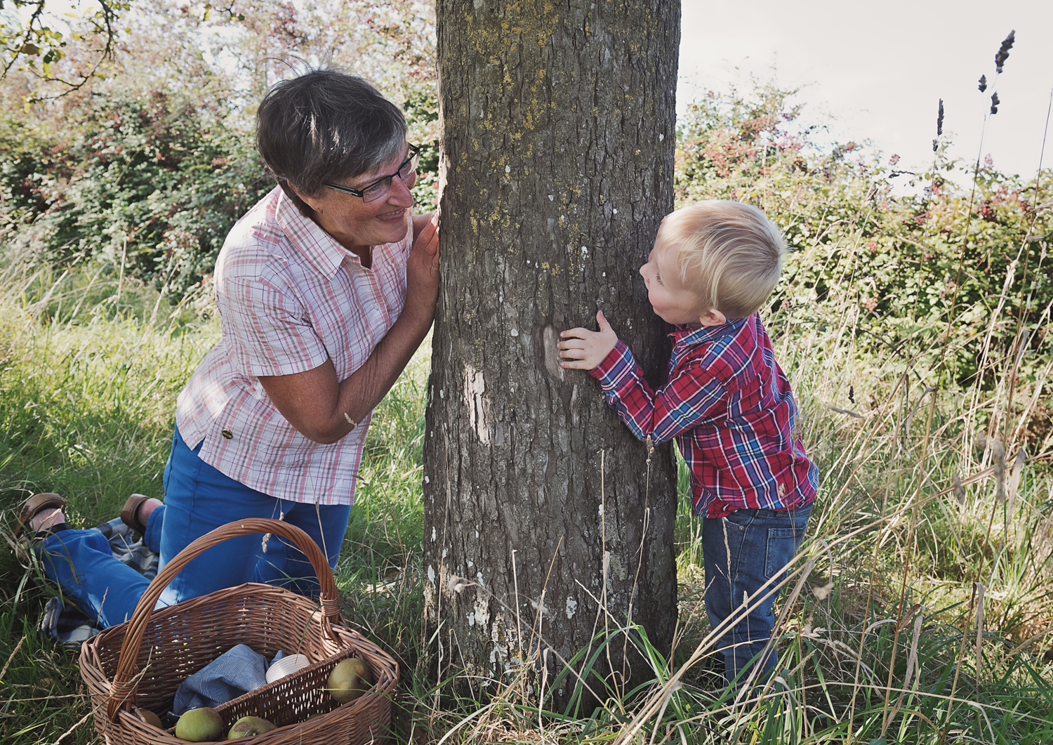
<path fill-rule="evenodd" d="M 126 280 L 120 298 L 110 285 L 98 305 L 67 298 L 59 310 L 51 303 L 61 288 L 26 302 L 33 287 L 3 278 L 20 292 L 2 298 L 0 389 L 18 394 L 0 396 L 0 493 L 58 491 L 77 525 L 101 522 L 130 493 L 159 495 L 175 396 L 214 326 L 152 324 L 156 293 Z M 71 282 L 72 293 L 90 281 Z"/>

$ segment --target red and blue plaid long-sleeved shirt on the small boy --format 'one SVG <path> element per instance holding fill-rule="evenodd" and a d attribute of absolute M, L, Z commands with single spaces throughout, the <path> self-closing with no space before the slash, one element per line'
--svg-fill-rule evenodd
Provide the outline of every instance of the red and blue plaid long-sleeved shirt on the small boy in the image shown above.
<path fill-rule="evenodd" d="M 621 341 L 590 374 L 640 439 L 676 437 L 691 470 L 695 514 L 787 510 L 815 499 L 819 473 L 794 434 L 797 404 L 760 317 L 670 334 L 658 391 Z"/>

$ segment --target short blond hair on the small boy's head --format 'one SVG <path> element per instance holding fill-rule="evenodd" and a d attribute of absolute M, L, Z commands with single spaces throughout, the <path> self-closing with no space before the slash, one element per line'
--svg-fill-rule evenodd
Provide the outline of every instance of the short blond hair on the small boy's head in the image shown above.
<path fill-rule="evenodd" d="M 779 229 L 751 204 L 709 199 L 665 216 L 659 251 L 678 249 L 680 281 L 703 306 L 746 318 L 772 294 L 786 243 Z"/>

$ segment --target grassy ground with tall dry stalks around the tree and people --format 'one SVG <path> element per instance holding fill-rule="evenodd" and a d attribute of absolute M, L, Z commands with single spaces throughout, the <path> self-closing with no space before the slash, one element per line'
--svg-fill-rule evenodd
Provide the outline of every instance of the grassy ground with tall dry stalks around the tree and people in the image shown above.
<path fill-rule="evenodd" d="M 9 269 L 0 287 L 0 523 L 31 492 L 59 491 L 76 526 L 160 495 L 175 396 L 218 335 L 115 273 Z M 780 674 L 753 708 L 722 698 L 704 658 L 700 526 L 681 495 L 680 635 L 655 684 L 594 719 L 539 718 L 513 693 L 478 709 L 437 704 L 421 666 L 420 437 L 425 353 L 381 404 L 337 577 L 346 615 L 403 665 L 399 738 L 461 742 L 991 742 L 1053 738 L 1045 374 L 1019 383 L 1011 353 L 985 362 L 994 390 L 940 390 L 941 335 L 902 355 L 858 354 L 853 309 L 770 319 L 823 474 L 810 537 L 782 604 Z M 1006 319 L 992 317 L 991 328 Z M 1048 318 L 1047 318 L 1048 321 Z M 1048 342 L 1036 354 L 1050 357 Z M 1047 373 L 1048 365 L 1042 367 Z M 986 442 L 982 442 L 986 440 Z M 1000 455 L 999 455 L 1000 453 Z M 999 471 L 1000 469 L 1000 471 Z M 977 476 L 976 474 L 981 474 Z M 955 476 L 963 486 L 954 486 Z M 47 596 L 0 548 L 0 742 L 87 743 L 73 653 L 37 630 Z M 645 642 L 644 642 L 645 643 Z M 1044 653 L 1046 656 L 1044 656 Z"/>

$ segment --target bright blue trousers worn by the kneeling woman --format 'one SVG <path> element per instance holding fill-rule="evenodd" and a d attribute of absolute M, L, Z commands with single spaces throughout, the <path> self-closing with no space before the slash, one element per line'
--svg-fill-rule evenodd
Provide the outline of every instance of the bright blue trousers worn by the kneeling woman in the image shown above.
<path fill-rule="evenodd" d="M 336 568 L 347 529 L 351 507 L 316 506 L 279 499 L 251 489 L 198 457 L 176 428 L 164 467 L 164 506 L 150 515 L 143 540 L 161 554 L 163 568 L 177 553 L 208 531 L 245 517 L 273 517 L 301 528 L 322 548 Z M 262 535 L 231 538 L 193 560 L 168 585 L 158 607 L 174 605 L 245 582 L 287 587 L 301 594 L 317 592 L 318 577 L 306 556 L 283 538 L 272 535 L 266 550 Z M 150 585 L 135 569 L 114 558 L 105 536 L 97 530 L 62 530 L 41 545 L 47 576 L 101 627 L 132 616 Z"/>

